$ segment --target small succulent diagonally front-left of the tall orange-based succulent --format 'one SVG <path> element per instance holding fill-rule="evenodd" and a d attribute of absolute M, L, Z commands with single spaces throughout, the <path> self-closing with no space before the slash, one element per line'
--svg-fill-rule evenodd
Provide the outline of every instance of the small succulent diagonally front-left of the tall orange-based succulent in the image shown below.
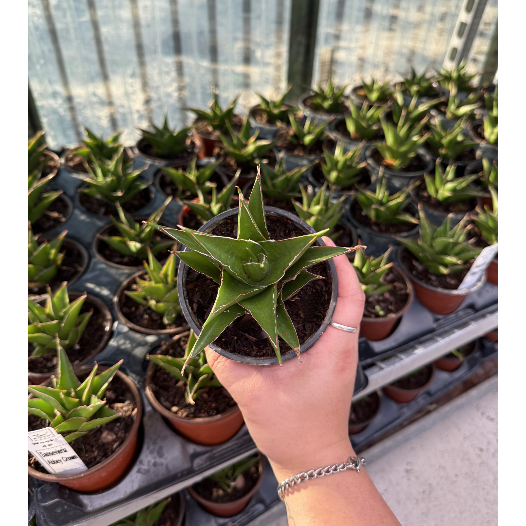
<path fill-rule="evenodd" d="M 360 155 L 365 141 L 356 148 L 344 153 L 342 141 L 338 141 L 334 155 L 330 153 L 325 147 L 323 148 L 323 155 L 325 162 L 321 161 L 321 171 L 323 176 L 329 182 L 331 189 L 348 188 L 355 184 L 359 179 L 359 174 L 367 162 L 360 163 Z"/>

